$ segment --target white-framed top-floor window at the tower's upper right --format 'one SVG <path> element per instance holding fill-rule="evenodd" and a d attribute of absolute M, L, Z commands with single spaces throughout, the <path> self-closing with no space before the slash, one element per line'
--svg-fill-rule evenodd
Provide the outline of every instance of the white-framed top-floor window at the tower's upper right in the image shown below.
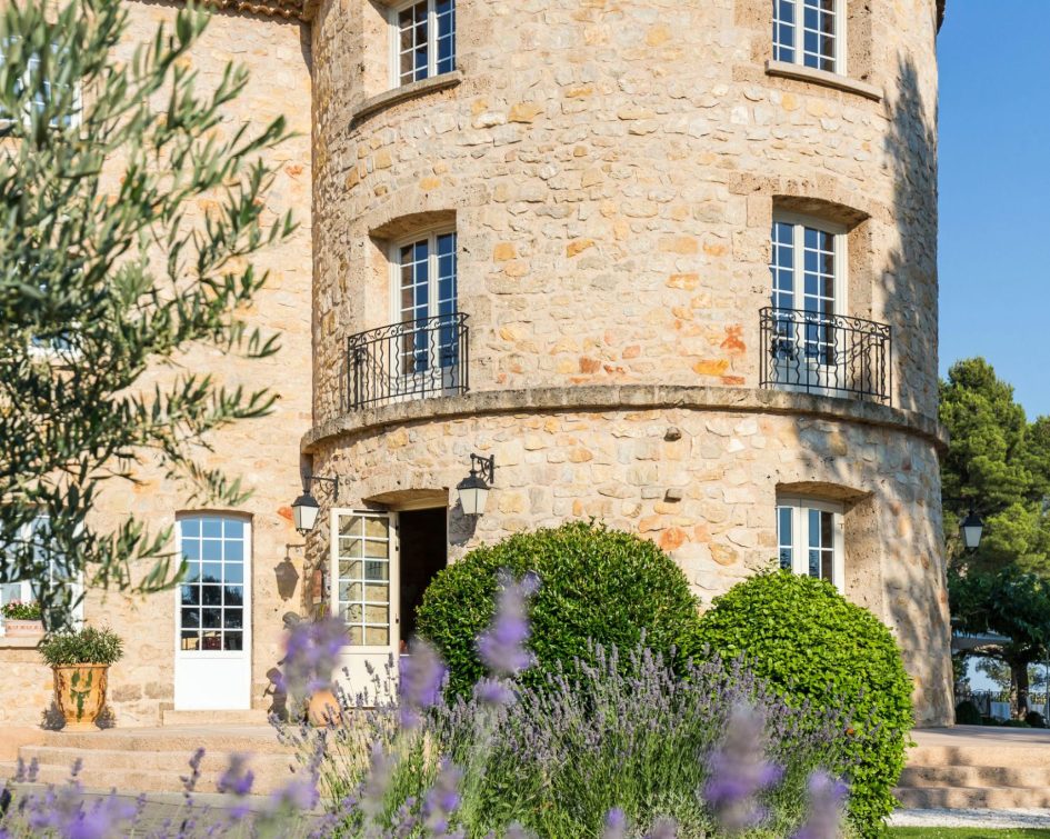
<path fill-rule="evenodd" d="M 844 0 L 773 0 L 773 58 L 846 74 Z"/>

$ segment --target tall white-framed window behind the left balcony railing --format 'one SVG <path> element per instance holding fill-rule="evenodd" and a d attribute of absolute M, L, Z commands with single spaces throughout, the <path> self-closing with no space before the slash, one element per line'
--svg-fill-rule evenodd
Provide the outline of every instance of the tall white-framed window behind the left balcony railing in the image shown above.
<path fill-rule="evenodd" d="M 402 324 L 399 370 L 421 373 L 458 363 L 456 232 L 396 247 L 397 321 Z"/>

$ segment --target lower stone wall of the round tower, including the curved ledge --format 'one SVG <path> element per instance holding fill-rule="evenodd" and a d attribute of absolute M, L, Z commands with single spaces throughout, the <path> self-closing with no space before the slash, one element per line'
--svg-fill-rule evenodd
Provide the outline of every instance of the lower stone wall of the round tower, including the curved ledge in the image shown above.
<path fill-rule="evenodd" d="M 773 561 L 778 493 L 841 500 L 844 592 L 897 635 L 918 721 L 950 721 L 940 473 L 928 435 L 909 432 L 897 411 L 834 408 L 846 414 L 836 418 L 828 408 L 837 400 L 794 394 L 771 401 L 741 390 L 729 403 L 703 389 L 666 388 L 659 399 L 630 388 L 586 392 L 546 409 L 543 397 L 504 393 L 498 406 L 482 396 L 439 400 L 442 416 L 432 418 L 404 420 L 393 409 L 382 421 L 379 411 L 368 426 L 312 443 L 314 467 L 349 478 L 341 507 L 443 491 L 453 560 L 570 519 L 640 533 L 674 559 L 704 603 Z M 494 455 L 497 465 L 477 520 L 461 515 L 452 489 L 471 452 Z M 327 529 L 312 539 L 324 557 Z"/>

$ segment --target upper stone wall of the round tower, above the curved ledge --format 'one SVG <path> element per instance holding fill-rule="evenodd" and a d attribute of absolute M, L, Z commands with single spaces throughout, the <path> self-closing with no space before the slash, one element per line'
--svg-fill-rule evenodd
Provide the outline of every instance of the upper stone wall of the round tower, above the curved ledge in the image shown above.
<path fill-rule="evenodd" d="M 383 9 L 313 26 L 320 421 L 346 337 L 398 319 L 386 246 L 434 218 L 474 389 L 756 387 L 778 206 L 850 227 L 846 313 L 894 328 L 893 403 L 936 414 L 932 0 L 849 3 L 881 101 L 768 74 L 768 0 L 460 0 L 460 83 L 360 117 Z"/>

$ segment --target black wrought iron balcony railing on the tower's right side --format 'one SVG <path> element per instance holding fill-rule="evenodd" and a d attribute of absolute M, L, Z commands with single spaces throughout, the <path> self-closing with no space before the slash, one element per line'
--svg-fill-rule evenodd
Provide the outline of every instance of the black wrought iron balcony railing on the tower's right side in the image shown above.
<path fill-rule="evenodd" d="M 891 332 L 861 318 L 762 309 L 760 384 L 889 403 Z"/>

